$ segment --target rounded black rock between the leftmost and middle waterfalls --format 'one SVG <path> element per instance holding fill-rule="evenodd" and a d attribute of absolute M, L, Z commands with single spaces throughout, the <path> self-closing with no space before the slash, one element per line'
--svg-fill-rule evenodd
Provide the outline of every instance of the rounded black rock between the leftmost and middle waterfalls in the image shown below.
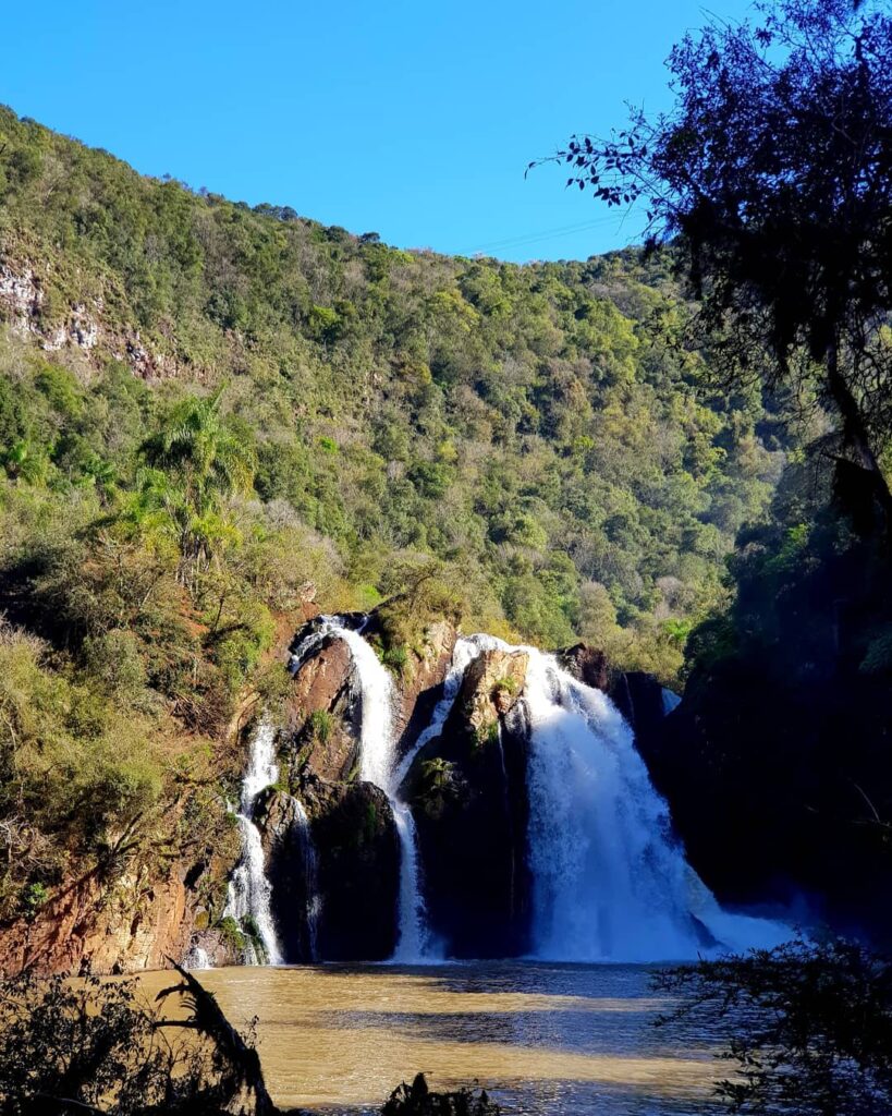
<path fill-rule="evenodd" d="M 320 956 L 386 960 L 396 947 L 399 896 L 399 838 L 387 796 L 370 782 L 313 781 L 302 798 L 317 849 Z M 278 905 L 274 878 L 273 895 Z"/>

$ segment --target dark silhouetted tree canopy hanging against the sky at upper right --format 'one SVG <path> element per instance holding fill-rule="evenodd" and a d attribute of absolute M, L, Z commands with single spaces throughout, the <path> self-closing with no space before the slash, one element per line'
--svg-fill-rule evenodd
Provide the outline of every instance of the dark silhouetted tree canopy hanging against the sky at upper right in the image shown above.
<path fill-rule="evenodd" d="M 735 376 L 816 376 L 840 456 L 870 474 L 892 433 L 892 17 L 879 2 L 782 0 L 714 22 L 668 66 L 673 108 L 574 136 L 568 184 L 642 201 L 678 238 L 711 352 Z"/>

